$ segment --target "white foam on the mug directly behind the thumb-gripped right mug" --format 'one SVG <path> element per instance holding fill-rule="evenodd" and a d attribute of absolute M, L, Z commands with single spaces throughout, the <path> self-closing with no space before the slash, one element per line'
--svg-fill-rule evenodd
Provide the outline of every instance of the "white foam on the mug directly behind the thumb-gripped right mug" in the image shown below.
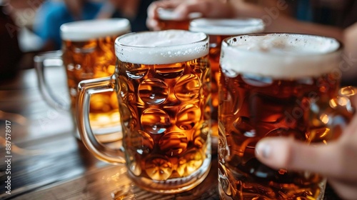
<path fill-rule="evenodd" d="M 253 34 L 264 30 L 264 22 L 255 18 L 236 19 L 194 19 L 189 26 L 190 31 L 203 32 L 208 35 L 233 36 Z"/>

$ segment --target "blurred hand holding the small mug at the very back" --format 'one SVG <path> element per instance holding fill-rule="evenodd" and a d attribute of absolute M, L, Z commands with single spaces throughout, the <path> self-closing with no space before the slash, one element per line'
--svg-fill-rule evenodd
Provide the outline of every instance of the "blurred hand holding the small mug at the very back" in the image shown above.
<path fill-rule="evenodd" d="M 151 30 L 160 30 L 158 9 L 174 9 L 176 19 L 188 19 L 193 12 L 201 13 L 203 17 L 230 18 L 233 7 L 224 0 L 161 0 L 154 1 L 148 8 L 146 26 Z"/>

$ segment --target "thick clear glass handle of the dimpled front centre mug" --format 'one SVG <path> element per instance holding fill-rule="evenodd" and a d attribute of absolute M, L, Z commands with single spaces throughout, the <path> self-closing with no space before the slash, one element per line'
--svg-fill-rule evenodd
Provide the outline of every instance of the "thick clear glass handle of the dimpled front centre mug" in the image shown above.
<path fill-rule="evenodd" d="M 110 164 L 124 164 L 124 150 L 110 149 L 102 145 L 94 136 L 89 124 L 89 102 L 91 94 L 98 94 L 116 89 L 115 75 L 100 78 L 89 79 L 79 82 L 78 94 L 76 99 L 76 120 L 81 140 L 89 151 L 97 159 L 106 161 Z"/>

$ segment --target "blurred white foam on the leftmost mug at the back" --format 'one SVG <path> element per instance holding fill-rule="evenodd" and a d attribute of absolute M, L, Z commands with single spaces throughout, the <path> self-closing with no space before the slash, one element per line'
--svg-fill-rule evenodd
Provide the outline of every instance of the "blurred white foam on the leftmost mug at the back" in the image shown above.
<path fill-rule="evenodd" d="M 129 33 L 131 26 L 128 19 L 114 18 L 69 22 L 60 29 L 62 40 L 87 41 Z"/>

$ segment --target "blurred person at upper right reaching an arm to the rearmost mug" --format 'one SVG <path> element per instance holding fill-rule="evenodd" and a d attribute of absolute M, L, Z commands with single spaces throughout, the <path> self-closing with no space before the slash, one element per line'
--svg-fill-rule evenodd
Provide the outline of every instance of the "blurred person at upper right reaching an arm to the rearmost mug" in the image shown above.
<path fill-rule="evenodd" d="M 161 0 L 149 6 L 146 24 L 151 30 L 159 29 L 159 7 L 175 9 L 182 19 L 191 12 L 201 12 L 207 18 L 254 17 L 263 19 L 266 32 L 333 37 L 342 41 L 345 47 L 340 67 L 341 84 L 357 86 L 355 0 Z"/>

